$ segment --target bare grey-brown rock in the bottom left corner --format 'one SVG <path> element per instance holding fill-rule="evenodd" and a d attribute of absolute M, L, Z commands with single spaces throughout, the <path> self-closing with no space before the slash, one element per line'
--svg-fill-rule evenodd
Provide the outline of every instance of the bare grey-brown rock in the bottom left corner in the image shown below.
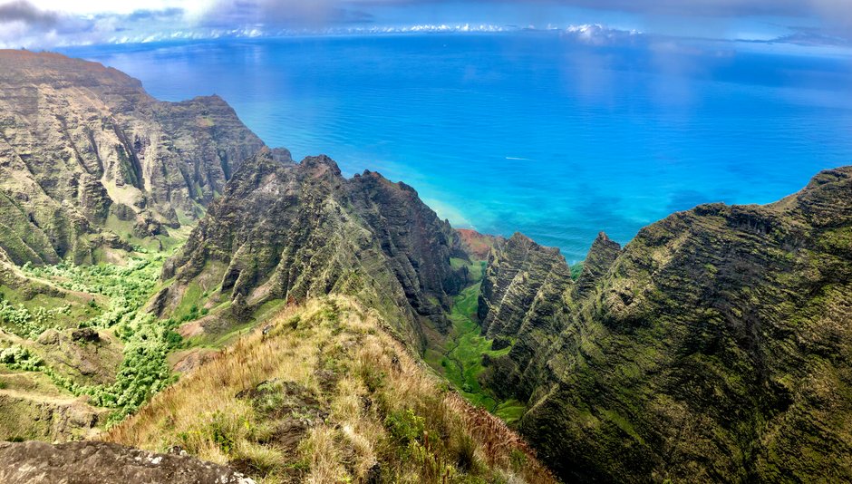
<path fill-rule="evenodd" d="M 0 442 L 0 481 L 8 484 L 254 482 L 227 467 L 185 455 L 156 454 L 98 441 L 59 445 L 39 441 Z"/>

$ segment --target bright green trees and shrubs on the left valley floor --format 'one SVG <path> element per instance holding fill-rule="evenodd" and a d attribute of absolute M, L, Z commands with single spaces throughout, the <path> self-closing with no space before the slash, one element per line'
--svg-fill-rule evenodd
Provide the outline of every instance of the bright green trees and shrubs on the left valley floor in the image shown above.
<path fill-rule="evenodd" d="M 109 384 L 83 384 L 57 370 L 47 355 L 38 349 L 20 344 L 5 347 L 0 363 L 12 370 L 41 372 L 53 383 L 74 395 L 89 395 L 93 405 L 115 409 L 110 423 L 121 421 L 136 411 L 151 395 L 165 388 L 174 378 L 168 354 L 182 345 L 175 333 L 173 319 L 158 320 L 143 314 L 140 308 L 155 292 L 160 269 L 166 256 L 138 249 L 126 265 L 101 264 L 76 266 L 62 262 L 54 266 L 22 267 L 24 275 L 60 287 L 66 297 L 88 300 L 82 304 L 84 314 L 78 327 L 92 327 L 106 334 L 115 334 L 123 344 L 122 360 Z M 21 344 L 32 344 L 48 329 L 63 330 L 69 325 L 71 305 L 57 305 L 62 298 L 34 298 L 28 308 L 24 303 L 12 305 L 0 300 L 0 327 L 24 338 Z M 54 305 L 46 307 L 39 303 Z M 35 305 L 35 306 L 34 306 Z M 200 311 L 192 306 L 183 319 L 198 317 Z M 0 344 L 3 339 L 0 338 Z M 8 344 L 8 343 L 6 343 Z"/>

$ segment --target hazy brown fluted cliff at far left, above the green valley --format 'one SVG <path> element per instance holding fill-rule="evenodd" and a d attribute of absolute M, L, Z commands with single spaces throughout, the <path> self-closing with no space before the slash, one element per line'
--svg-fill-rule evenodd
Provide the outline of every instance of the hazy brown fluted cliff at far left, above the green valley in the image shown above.
<path fill-rule="evenodd" d="M 121 247 L 118 227 L 164 234 L 262 146 L 216 96 L 160 102 L 98 63 L 0 51 L 0 247 L 16 264 L 91 262 Z"/>

